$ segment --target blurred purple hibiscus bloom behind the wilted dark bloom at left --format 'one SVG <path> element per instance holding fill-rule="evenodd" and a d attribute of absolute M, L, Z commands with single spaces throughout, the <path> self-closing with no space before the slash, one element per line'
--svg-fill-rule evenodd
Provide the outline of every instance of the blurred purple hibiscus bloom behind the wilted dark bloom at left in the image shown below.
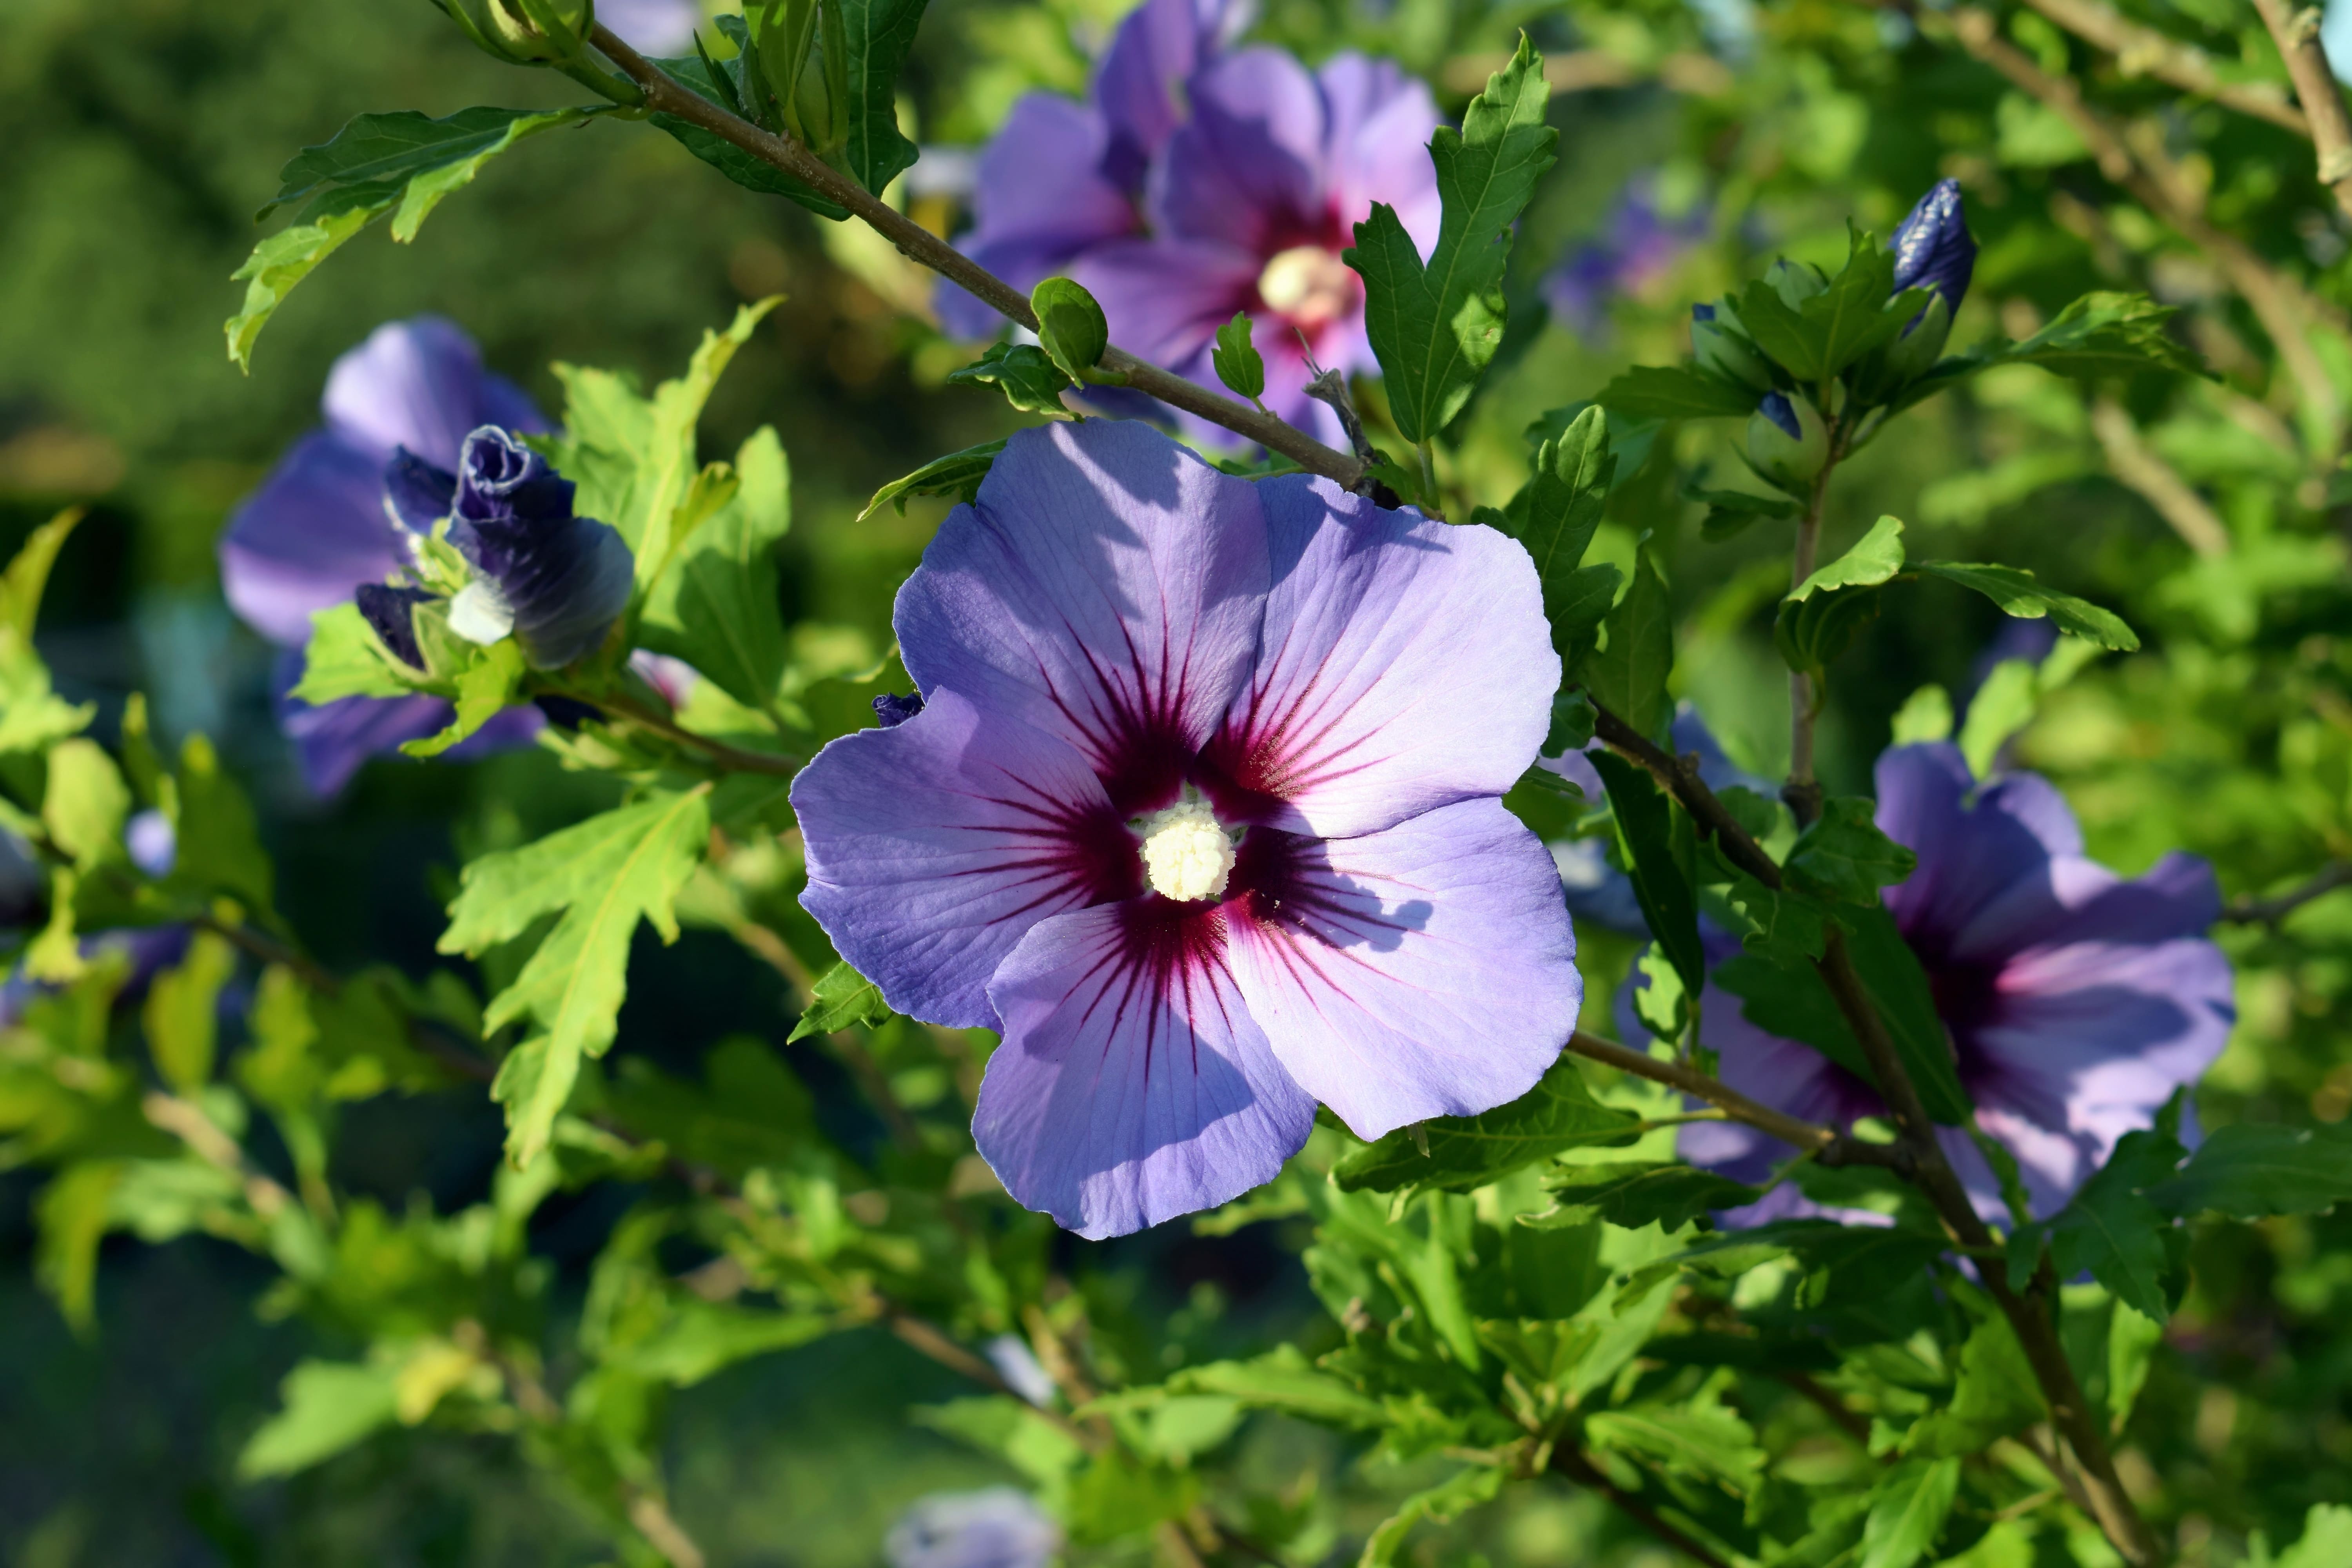
<path fill-rule="evenodd" d="M 221 590 L 247 625 L 287 649 L 278 663 L 278 724 L 294 741 L 315 795 L 336 795 L 369 757 L 449 724 L 437 696 L 343 698 L 313 708 L 289 696 L 301 677 L 310 614 L 343 604 L 360 583 L 407 564 L 383 503 L 400 449 L 454 468 L 477 425 L 548 430 L 522 388 L 482 369 L 482 353 L 452 322 L 388 322 L 334 362 L 322 430 L 294 442 L 221 536 Z M 541 719 L 510 708 L 452 757 L 520 745 Z"/>

